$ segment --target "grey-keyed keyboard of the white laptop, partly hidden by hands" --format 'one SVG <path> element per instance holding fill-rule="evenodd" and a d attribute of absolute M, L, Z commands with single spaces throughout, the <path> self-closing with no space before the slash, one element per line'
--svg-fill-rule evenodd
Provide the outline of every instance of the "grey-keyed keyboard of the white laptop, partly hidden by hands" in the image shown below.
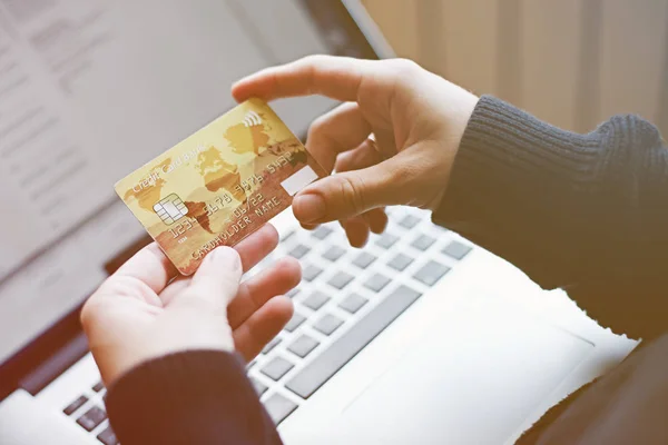
<path fill-rule="evenodd" d="M 288 294 L 295 313 L 248 364 L 248 376 L 276 424 L 298 408 L 423 293 L 448 275 L 471 246 L 429 221 L 428 212 L 389 209 L 390 224 L 363 249 L 348 246 L 335 224 L 283 237 L 247 276 L 286 255 L 299 260 L 303 280 Z M 63 409 L 105 445 L 118 444 L 95 385 Z"/>

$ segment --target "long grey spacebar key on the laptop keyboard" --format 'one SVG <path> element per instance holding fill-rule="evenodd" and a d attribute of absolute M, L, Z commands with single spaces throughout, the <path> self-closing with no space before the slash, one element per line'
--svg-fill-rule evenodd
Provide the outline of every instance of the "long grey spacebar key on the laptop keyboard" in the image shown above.
<path fill-rule="evenodd" d="M 294 376 L 285 387 L 302 398 L 308 398 L 362 348 L 374 339 L 422 294 L 400 286 L 380 305 L 358 320 L 312 363 Z"/>

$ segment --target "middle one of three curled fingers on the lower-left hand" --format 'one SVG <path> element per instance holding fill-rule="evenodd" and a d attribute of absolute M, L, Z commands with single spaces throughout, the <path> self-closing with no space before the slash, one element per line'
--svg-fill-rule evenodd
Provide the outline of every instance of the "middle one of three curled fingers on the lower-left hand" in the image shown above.
<path fill-rule="evenodd" d="M 297 286 L 301 279 L 302 268 L 299 261 L 288 257 L 243 283 L 237 297 L 229 304 L 227 312 L 229 326 L 233 329 L 238 327 L 269 298 L 286 294 Z"/>

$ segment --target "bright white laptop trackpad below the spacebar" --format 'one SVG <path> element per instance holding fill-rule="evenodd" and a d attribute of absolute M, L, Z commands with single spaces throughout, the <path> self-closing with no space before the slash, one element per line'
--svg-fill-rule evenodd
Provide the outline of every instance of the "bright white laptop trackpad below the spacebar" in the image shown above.
<path fill-rule="evenodd" d="M 503 443 L 592 349 L 517 309 L 460 308 L 342 413 L 335 442 Z"/>

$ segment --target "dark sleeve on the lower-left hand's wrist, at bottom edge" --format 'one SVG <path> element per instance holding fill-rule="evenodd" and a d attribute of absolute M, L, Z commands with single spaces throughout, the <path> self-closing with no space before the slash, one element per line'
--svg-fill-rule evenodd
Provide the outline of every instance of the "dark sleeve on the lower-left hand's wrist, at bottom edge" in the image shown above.
<path fill-rule="evenodd" d="M 224 352 L 144 363 L 111 385 L 106 404 L 124 445 L 282 443 L 240 357 Z"/>

